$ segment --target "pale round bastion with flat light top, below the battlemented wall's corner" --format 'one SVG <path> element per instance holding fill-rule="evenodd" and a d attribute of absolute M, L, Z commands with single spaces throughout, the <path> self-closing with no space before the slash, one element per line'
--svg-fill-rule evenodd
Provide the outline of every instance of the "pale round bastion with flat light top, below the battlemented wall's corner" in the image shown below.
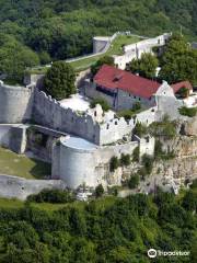
<path fill-rule="evenodd" d="M 60 138 L 59 178 L 68 187 L 77 188 L 84 182 L 88 186 L 95 186 L 95 159 L 97 146 L 79 137 L 67 136 Z"/>

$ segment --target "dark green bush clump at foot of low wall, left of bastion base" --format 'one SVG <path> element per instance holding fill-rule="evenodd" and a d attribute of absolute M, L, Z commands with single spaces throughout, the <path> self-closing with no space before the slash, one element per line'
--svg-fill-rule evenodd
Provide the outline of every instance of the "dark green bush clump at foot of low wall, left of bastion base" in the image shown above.
<path fill-rule="evenodd" d="M 30 202 L 36 202 L 36 203 L 54 203 L 54 204 L 60 204 L 60 203 L 70 203 L 73 201 L 73 196 L 68 191 L 62 190 L 43 190 L 40 193 L 35 195 L 30 195 L 27 197 L 27 201 Z"/>

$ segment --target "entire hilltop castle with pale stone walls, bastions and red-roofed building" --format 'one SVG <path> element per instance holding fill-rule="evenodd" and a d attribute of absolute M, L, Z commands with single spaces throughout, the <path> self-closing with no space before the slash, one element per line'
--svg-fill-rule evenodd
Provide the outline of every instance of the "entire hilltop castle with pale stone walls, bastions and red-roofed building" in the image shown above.
<path fill-rule="evenodd" d="M 11 87 L 0 81 L 0 146 L 19 153 L 33 151 L 51 162 L 51 179 L 61 179 L 70 188 L 82 184 L 95 187 L 121 184 L 124 169 L 111 171 L 113 157 L 132 155 L 139 148 L 139 158 L 154 155 L 154 138 L 139 138 L 134 134 L 137 123 L 146 126 L 170 119 L 187 118 L 179 114 L 182 106 L 195 106 L 197 96 L 188 81 L 169 85 L 121 70 L 129 56 L 140 56 L 152 46 L 163 46 L 169 34 L 125 46 L 125 55 L 115 57 L 117 68 L 104 65 L 96 76 L 83 81 L 82 91 L 89 99 L 105 99 L 113 111 L 101 105 L 78 111 L 40 91 L 43 76 L 25 78 L 26 87 Z M 113 37 L 116 37 L 114 35 Z M 112 39 L 94 39 L 94 48 L 108 46 Z M 103 43 L 104 42 L 104 43 Z M 101 47 L 102 46 L 102 47 Z M 178 98 L 182 88 L 188 98 Z M 130 119 L 118 117 L 116 111 L 129 110 L 136 103 L 142 111 Z"/>

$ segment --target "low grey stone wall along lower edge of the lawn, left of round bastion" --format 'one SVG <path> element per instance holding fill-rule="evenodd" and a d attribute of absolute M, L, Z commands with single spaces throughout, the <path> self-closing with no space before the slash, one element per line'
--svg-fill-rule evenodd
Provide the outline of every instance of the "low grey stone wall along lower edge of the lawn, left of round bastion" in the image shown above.
<path fill-rule="evenodd" d="M 0 196 L 5 198 L 26 199 L 44 188 L 66 188 L 61 180 L 26 180 L 18 176 L 0 175 Z"/>

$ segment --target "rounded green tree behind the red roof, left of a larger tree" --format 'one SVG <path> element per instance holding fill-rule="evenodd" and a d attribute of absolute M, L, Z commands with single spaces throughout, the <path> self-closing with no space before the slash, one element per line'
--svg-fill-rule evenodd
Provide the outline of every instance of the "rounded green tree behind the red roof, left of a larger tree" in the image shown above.
<path fill-rule="evenodd" d="M 155 78 L 157 67 L 159 66 L 158 58 L 151 53 L 144 53 L 140 59 L 132 59 L 130 62 L 130 71 L 139 73 L 144 78 Z"/>

